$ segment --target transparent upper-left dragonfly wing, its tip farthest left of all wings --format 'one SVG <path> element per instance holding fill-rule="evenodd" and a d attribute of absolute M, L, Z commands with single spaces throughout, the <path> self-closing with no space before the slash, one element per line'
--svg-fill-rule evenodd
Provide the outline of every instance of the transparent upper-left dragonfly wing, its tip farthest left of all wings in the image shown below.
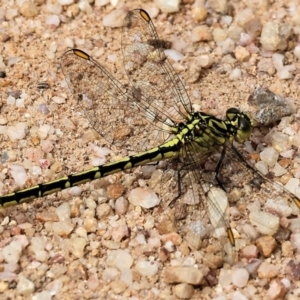
<path fill-rule="evenodd" d="M 170 128 L 166 125 L 163 130 L 158 125 L 155 114 L 144 106 L 145 96 L 139 89 L 126 90 L 85 52 L 68 50 L 61 58 L 61 68 L 91 126 L 109 143 L 142 151 L 169 138 Z M 143 91 L 147 93 L 147 89 Z"/>

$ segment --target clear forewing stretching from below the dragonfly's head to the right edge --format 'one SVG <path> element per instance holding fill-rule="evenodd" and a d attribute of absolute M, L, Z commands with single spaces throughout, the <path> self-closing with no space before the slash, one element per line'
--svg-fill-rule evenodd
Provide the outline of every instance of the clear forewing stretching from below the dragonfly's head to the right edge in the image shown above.
<path fill-rule="evenodd" d="M 283 230 L 281 221 L 299 214 L 299 199 L 276 178 L 260 173 L 228 144 L 218 178 L 227 191 L 239 217 L 247 220 L 259 234 L 276 235 Z"/>

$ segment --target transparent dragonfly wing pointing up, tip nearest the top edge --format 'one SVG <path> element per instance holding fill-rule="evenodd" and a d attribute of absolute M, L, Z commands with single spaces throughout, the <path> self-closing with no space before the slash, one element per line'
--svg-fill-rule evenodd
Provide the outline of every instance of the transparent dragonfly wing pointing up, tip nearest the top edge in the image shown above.
<path fill-rule="evenodd" d="M 122 51 L 127 76 L 143 96 L 143 109 L 150 110 L 162 124 L 184 122 L 192 112 L 190 99 L 144 10 L 130 11 L 125 17 Z"/>

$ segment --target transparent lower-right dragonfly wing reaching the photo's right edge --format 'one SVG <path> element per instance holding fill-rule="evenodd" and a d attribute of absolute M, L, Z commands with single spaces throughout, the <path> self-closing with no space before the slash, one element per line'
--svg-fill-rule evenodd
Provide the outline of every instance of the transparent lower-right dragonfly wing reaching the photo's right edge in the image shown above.
<path fill-rule="evenodd" d="M 234 197 L 238 205 L 247 208 L 247 213 L 265 210 L 277 215 L 278 218 L 283 215 L 289 218 L 298 215 L 300 201 L 294 194 L 279 182 L 256 170 L 233 145 L 227 145 L 225 151 L 222 166 L 217 174 L 218 180 L 229 193 L 229 197 Z M 274 208 L 271 209 L 273 205 Z M 287 211 L 279 212 L 275 206 L 285 207 Z"/>

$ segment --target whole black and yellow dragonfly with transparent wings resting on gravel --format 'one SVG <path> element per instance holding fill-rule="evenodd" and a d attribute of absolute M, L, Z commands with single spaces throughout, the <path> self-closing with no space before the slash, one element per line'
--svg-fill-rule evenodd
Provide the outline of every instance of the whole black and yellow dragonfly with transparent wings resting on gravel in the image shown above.
<path fill-rule="evenodd" d="M 253 120 L 248 113 L 229 108 L 222 120 L 192 105 L 145 10 L 128 12 L 121 44 L 127 86 L 80 49 L 66 51 L 60 63 L 91 126 L 109 143 L 137 154 L 0 196 L 2 208 L 138 166 L 157 163 L 159 168 L 161 161 L 166 161 L 166 171 L 159 173 L 154 189 L 167 199 L 168 218 L 185 228 L 196 248 L 196 240 L 220 228 L 217 239 L 226 237 L 235 245 L 225 216 L 228 201 L 221 204 L 226 197 L 244 207 L 248 218 L 247 203 L 258 202 L 260 210 L 270 197 L 300 208 L 296 196 L 256 170 L 234 145 L 250 138 Z"/>

